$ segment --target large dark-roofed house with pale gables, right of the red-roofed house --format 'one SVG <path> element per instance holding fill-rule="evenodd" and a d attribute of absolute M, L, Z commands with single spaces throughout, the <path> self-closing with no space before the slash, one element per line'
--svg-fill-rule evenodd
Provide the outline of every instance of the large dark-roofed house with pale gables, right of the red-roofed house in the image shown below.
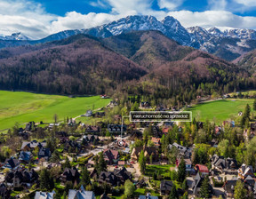
<path fill-rule="evenodd" d="M 219 155 L 212 155 L 212 170 L 220 171 L 225 174 L 237 174 L 238 165 L 234 158 L 224 158 Z"/>

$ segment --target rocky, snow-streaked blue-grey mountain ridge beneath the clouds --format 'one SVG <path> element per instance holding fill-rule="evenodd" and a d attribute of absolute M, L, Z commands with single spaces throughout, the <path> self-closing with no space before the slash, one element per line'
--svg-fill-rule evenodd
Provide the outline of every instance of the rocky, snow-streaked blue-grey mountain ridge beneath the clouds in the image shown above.
<path fill-rule="evenodd" d="M 236 60 L 246 52 L 256 49 L 256 31 L 252 29 L 226 29 L 219 28 L 184 28 L 180 22 L 171 16 L 164 20 L 156 20 L 153 16 L 128 16 L 111 23 L 89 29 L 66 30 L 40 40 L 28 40 L 21 33 L 12 36 L 0 37 L 0 47 L 13 47 L 27 44 L 44 44 L 74 36 L 87 34 L 100 38 L 118 36 L 139 30 L 158 30 L 181 45 L 194 47 L 209 52 L 224 60 Z"/>

